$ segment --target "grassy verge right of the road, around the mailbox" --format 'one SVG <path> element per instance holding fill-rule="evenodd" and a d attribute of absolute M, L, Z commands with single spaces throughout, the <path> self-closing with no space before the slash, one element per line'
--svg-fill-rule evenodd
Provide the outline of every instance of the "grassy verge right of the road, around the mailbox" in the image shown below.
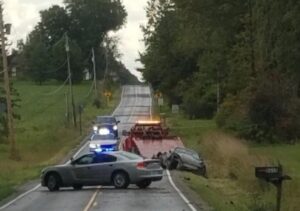
<path fill-rule="evenodd" d="M 255 178 L 254 167 L 277 164 L 293 180 L 284 183 L 282 210 L 300 210 L 300 145 L 252 146 L 219 131 L 213 120 L 188 120 L 168 113 L 168 125 L 186 147 L 203 155 L 208 179 L 181 172 L 184 181 L 214 210 L 273 210 L 275 187 Z"/>

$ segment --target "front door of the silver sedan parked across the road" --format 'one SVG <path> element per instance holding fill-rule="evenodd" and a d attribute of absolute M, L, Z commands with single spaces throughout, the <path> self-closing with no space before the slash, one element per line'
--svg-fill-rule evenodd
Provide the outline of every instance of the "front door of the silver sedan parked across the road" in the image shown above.
<path fill-rule="evenodd" d="M 72 175 L 74 181 L 76 183 L 81 183 L 83 185 L 89 184 L 90 181 L 90 168 L 94 160 L 93 154 L 84 155 L 78 158 L 76 161 L 73 162 L 71 167 Z"/>

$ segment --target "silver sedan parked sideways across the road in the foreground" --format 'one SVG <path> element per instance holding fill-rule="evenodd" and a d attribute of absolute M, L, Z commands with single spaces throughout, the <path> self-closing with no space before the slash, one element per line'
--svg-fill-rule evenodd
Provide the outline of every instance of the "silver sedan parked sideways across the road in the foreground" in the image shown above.
<path fill-rule="evenodd" d="M 95 185 L 123 189 L 136 184 L 139 188 L 147 188 L 162 177 L 163 169 L 158 160 L 144 160 L 136 154 L 117 151 L 85 154 L 71 159 L 68 164 L 48 167 L 42 171 L 41 184 L 50 191 L 60 187 L 81 189 Z"/>

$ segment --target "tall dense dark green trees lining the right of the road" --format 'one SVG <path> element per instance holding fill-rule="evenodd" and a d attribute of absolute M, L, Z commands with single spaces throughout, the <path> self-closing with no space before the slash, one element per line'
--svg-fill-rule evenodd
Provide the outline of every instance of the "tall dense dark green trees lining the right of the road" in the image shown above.
<path fill-rule="evenodd" d="M 297 140 L 299 11 L 296 0 L 149 0 L 141 71 L 189 118 L 249 140 Z"/>

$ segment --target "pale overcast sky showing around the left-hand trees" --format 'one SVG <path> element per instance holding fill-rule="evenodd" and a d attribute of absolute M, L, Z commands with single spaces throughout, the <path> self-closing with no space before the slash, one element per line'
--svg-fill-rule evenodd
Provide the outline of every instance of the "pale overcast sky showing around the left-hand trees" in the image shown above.
<path fill-rule="evenodd" d="M 62 5 L 63 0 L 3 0 L 5 22 L 13 24 L 11 39 L 26 38 L 26 35 L 34 28 L 39 19 L 39 11 L 49 8 L 53 4 Z M 138 52 L 143 51 L 141 42 L 143 34 L 141 24 L 145 24 L 145 7 L 147 0 L 123 0 L 128 17 L 127 24 L 117 35 L 120 37 L 120 51 L 123 54 L 122 61 L 126 67 L 141 79 L 141 75 L 135 71 L 141 64 L 135 60 Z"/>

